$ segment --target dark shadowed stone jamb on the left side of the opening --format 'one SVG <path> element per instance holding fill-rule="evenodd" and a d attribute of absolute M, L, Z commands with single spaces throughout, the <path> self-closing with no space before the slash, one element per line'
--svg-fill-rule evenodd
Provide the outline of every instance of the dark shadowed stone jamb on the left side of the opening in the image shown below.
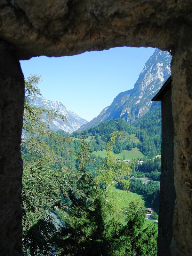
<path fill-rule="evenodd" d="M 24 78 L 20 63 L 0 42 L 0 255 L 22 254 L 20 138 Z"/>

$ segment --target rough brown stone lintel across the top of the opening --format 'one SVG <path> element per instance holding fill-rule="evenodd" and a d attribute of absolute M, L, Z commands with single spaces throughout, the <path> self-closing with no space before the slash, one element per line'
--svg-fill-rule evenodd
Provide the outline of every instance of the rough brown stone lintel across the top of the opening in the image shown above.
<path fill-rule="evenodd" d="M 170 50 L 190 9 L 186 0 L 1 0 L 0 37 L 20 59 L 126 45 Z"/>

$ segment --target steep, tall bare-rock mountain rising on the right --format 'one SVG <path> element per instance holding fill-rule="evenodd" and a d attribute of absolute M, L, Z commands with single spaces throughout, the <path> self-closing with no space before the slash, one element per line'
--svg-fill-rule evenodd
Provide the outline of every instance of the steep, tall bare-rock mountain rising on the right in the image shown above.
<path fill-rule="evenodd" d="M 153 55 L 145 63 L 133 89 L 119 93 L 110 106 L 104 108 L 99 116 L 84 124 L 78 131 L 116 118 L 123 118 L 132 123 L 145 115 L 151 107 L 151 99 L 171 75 L 171 59 L 169 52 L 155 49 Z"/>

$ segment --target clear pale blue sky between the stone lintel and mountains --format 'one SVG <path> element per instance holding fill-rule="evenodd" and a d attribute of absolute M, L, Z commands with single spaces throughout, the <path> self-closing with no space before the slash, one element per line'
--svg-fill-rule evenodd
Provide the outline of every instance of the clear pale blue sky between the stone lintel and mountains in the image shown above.
<path fill-rule="evenodd" d="M 27 78 L 42 76 L 43 97 L 58 100 L 67 110 L 91 121 L 120 93 L 133 88 L 154 48 L 117 47 L 75 56 L 22 60 Z"/>

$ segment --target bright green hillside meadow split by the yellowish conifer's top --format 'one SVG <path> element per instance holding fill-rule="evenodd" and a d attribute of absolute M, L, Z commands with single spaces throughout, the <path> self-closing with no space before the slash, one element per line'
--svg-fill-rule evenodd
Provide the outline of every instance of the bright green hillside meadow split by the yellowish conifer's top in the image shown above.
<path fill-rule="evenodd" d="M 104 149 L 103 151 L 94 151 L 93 154 L 95 154 L 95 156 L 105 157 L 106 150 Z M 143 157 L 143 154 L 139 151 L 138 148 L 132 148 L 132 150 L 123 150 L 123 152 L 121 152 L 119 154 L 113 153 L 113 155 L 116 158 L 120 158 L 120 159 L 123 159 L 123 156 L 125 156 L 125 160 L 139 159 L 139 158 Z"/>

